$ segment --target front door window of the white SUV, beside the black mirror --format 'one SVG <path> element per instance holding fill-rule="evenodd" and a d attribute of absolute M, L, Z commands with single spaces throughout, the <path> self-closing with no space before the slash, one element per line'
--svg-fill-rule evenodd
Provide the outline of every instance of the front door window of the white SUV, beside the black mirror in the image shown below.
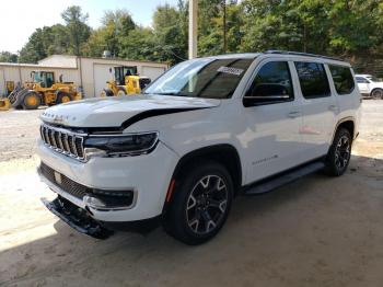
<path fill-rule="evenodd" d="M 272 104 L 292 101 L 294 93 L 287 61 L 265 64 L 255 77 L 246 97 L 256 104 Z"/>

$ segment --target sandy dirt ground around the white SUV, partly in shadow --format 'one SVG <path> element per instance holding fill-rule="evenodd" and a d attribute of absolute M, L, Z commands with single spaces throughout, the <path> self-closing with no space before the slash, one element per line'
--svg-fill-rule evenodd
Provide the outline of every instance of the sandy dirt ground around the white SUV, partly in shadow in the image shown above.
<path fill-rule="evenodd" d="M 383 101 L 363 103 L 344 176 L 240 197 L 197 248 L 161 229 L 98 241 L 45 210 L 31 157 L 39 113 L 0 114 L 1 286 L 383 286 Z"/>

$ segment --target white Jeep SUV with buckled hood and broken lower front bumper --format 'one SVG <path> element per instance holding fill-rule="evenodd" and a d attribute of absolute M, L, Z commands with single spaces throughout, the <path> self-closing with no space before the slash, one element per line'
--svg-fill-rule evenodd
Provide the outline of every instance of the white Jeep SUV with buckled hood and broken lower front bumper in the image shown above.
<path fill-rule="evenodd" d="M 361 96 L 349 64 L 267 51 L 197 58 L 143 94 L 70 102 L 42 115 L 45 205 L 83 233 L 217 234 L 232 199 L 324 169 L 341 175 Z"/>

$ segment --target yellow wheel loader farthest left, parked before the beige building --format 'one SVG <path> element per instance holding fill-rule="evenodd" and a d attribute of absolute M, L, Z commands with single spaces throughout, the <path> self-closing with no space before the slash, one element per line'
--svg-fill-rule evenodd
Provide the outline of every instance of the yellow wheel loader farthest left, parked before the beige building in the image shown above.
<path fill-rule="evenodd" d="M 8 96 L 15 108 L 36 110 L 40 105 L 55 105 L 82 99 L 82 93 L 72 82 L 56 82 L 53 71 L 33 71 L 32 81 L 16 87 Z"/>

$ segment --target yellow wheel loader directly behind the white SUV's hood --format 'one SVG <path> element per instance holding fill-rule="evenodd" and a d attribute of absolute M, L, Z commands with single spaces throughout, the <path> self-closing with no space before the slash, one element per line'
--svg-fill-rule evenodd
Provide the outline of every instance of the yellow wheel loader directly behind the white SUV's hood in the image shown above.
<path fill-rule="evenodd" d="M 114 79 L 107 81 L 107 87 L 101 92 L 101 96 L 115 96 L 139 94 L 150 82 L 150 78 L 137 74 L 136 66 L 114 67 Z M 113 73 L 112 68 L 109 72 Z"/>

